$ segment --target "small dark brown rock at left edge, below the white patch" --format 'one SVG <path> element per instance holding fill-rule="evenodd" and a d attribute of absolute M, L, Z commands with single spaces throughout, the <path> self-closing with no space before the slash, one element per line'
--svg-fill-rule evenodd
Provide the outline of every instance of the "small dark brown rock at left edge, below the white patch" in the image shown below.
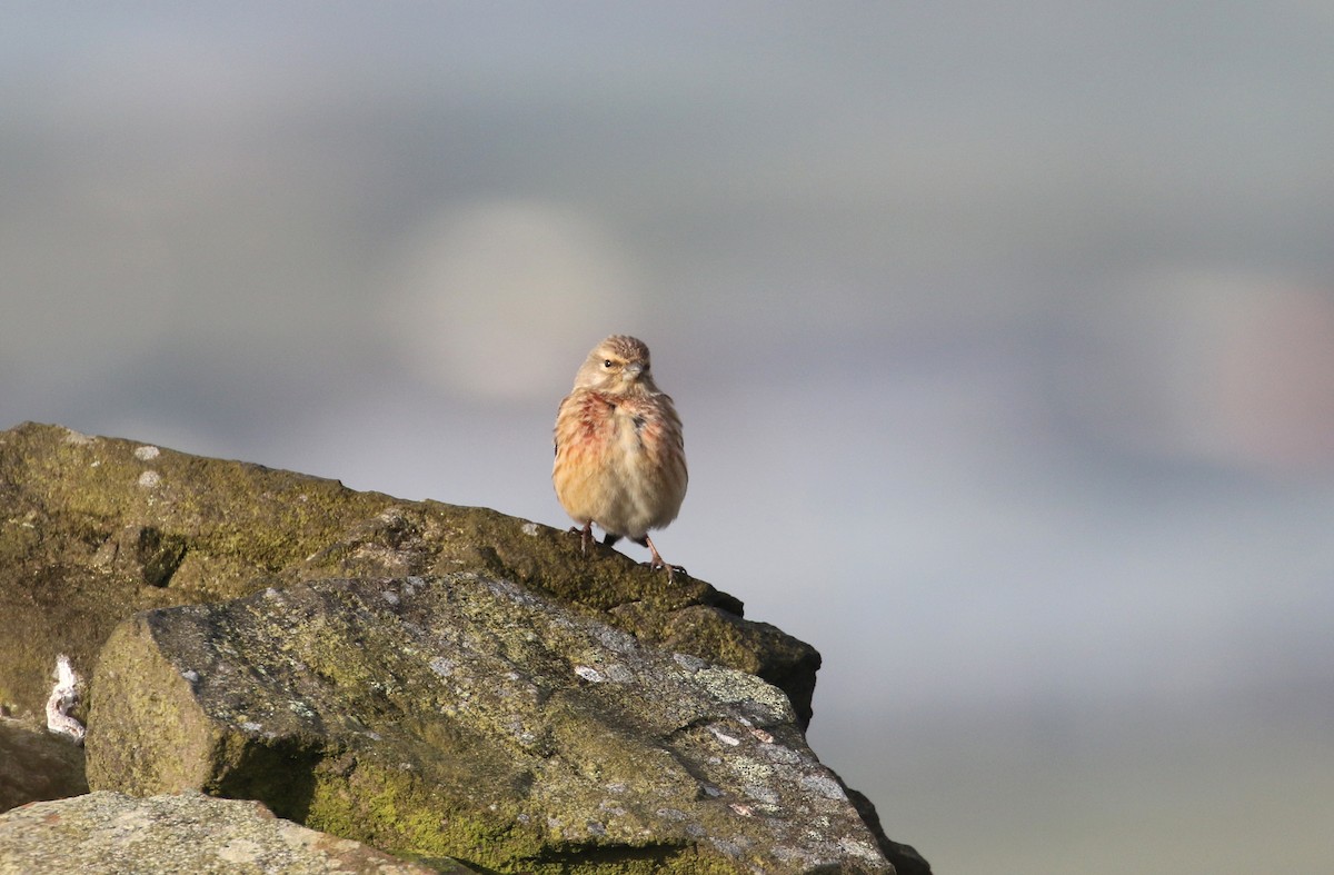
<path fill-rule="evenodd" d="M 83 748 L 35 726 L 0 718 L 0 811 L 88 792 Z"/>

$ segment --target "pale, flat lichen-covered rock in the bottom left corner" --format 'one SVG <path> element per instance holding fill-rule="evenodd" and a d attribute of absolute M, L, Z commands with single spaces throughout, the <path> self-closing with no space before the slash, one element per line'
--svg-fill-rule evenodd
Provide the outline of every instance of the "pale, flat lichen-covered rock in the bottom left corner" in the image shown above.
<path fill-rule="evenodd" d="M 136 799 L 93 792 L 0 815 L 0 875 L 217 872 L 432 875 L 364 844 L 275 818 L 257 802 L 197 792 Z"/>

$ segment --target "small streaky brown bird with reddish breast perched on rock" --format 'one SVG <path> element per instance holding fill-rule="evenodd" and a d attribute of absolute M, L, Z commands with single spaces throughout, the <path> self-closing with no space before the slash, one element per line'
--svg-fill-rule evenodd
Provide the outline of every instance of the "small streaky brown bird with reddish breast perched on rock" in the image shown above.
<path fill-rule="evenodd" d="M 648 347 L 612 335 L 594 347 L 575 375 L 575 387 L 556 413 L 556 462 L 551 482 L 566 512 L 583 528 L 588 552 L 592 524 L 607 532 L 604 544 L 622 538 L 647 547 L 654 568 L 663 562 L 648 538 L 680 511 L 686 498 L 686 442 L 671 397 L 654 384 Z"/>

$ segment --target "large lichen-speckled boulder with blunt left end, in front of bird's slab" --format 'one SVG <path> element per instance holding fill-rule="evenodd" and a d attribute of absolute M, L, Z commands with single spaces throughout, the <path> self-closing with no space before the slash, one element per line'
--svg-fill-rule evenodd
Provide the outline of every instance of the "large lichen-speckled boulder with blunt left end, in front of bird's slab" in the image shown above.
<path fill-rule="evenodd" d="M 602 616 L 474 574 L 140 614 L 97 664 L 89 783 L 499 871 L 892 871 L 782 691 Z"/>

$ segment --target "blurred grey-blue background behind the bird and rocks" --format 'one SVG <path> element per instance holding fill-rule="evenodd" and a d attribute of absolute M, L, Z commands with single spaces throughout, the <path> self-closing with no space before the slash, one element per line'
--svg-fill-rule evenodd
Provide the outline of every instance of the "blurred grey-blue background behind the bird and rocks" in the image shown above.
<path fill-rule="evenodd" d="M 564 527 L 638 335 L 935 871 L 1327 871 L 1331 9 L 9 8 L 0 427 Z"/>

